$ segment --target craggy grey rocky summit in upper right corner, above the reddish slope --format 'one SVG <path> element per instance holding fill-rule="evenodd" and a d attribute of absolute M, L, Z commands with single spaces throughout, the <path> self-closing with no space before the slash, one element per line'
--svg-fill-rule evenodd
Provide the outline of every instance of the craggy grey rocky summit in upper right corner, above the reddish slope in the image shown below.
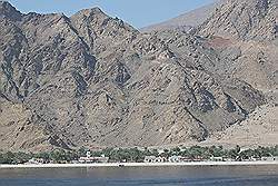
<path fill-rule="evenodd" d="M 227 0 L 201 27 L 200 33 L 242 40 L 274 40 L 277 0 Z"/>

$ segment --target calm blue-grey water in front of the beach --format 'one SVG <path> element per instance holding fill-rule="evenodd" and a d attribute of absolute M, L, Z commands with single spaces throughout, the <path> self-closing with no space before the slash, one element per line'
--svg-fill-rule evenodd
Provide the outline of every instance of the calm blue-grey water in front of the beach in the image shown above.
<path fill-rule="evenodd" d="M 278 166 L 0 169 L 0 186 L 278 186 Z"/>

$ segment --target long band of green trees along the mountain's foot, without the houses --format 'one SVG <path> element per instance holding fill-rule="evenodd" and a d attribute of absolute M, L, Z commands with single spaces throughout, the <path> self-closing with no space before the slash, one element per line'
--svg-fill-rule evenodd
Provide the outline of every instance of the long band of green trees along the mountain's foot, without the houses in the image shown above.
<path fill-rule="evenodd" d="M 31 158 L 43 159 L 44 163 L 70 163 L 72 160 L 78 160 L 79 157 L 86 156 L 89 149 L 80 148 L 79 150 L 63 150 L 56 149 L 50 153 L 3 153 L 0 150 L 0 164 L 23 164 Z M 278 146 L 275 147 L 261 147 L 256 149 L 241 149 L 236 146 L 232 149 L 225 149 L 222 146 L 211 146 L 211 147 L 176 147 L 172 149 L 165 149 L 160 154 L 157 149 L 149 148 L 106 148 L 99 151 L 91 151 L 91 156 L 105 155 L 109 157 L 110 161 L 143 161 L 145 156 L 182 156 L 189 159 L 209 159 L 210 157 L 226 157 L 237 160 L 250 159 L 250 158 L 261 158 L 278 156 Z"/>

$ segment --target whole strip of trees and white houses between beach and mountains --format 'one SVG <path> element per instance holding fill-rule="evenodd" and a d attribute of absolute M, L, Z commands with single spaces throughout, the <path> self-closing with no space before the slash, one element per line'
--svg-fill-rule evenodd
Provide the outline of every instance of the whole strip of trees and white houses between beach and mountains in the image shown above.
<path fill-rule="evenodd" d="M 108 163 L 202 163 L 202 161 L 278 161 L 278 146 L 224 148 L 191 146 L 175 148 L 79 148 L 40 153 L 12 153 L 0 149 L 1 165 L 108 164 Z"/>

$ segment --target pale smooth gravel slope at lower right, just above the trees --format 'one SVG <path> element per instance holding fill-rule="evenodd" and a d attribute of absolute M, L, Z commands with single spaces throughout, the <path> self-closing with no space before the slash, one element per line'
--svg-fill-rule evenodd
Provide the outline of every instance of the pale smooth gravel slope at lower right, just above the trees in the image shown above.
<path fill-rule="evenodd" d="M 216 133 L 202 145 L 222 145 L 241 147 L 274 146 L 278 136 L 278 107 L 265 105 L 257 108 L 240 125 Z"/>

